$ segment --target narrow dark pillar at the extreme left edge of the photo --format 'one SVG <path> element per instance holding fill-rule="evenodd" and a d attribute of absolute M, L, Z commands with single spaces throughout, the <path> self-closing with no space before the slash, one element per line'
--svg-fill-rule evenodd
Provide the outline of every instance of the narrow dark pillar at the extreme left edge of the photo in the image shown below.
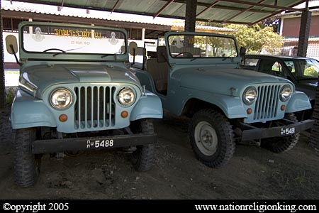
<path fill-rule="evenodd" d="M 0 43 L 1 43 L 1 60 L 0 60 L 0 109 L 6 108 L 6 85 L 4 81 L 4 43 L 3 43 L 3 34 L 2 29 L 4 28 L 2 23 L 2 13 L 1 13 L 1 1 L 0 1 Z"/>

